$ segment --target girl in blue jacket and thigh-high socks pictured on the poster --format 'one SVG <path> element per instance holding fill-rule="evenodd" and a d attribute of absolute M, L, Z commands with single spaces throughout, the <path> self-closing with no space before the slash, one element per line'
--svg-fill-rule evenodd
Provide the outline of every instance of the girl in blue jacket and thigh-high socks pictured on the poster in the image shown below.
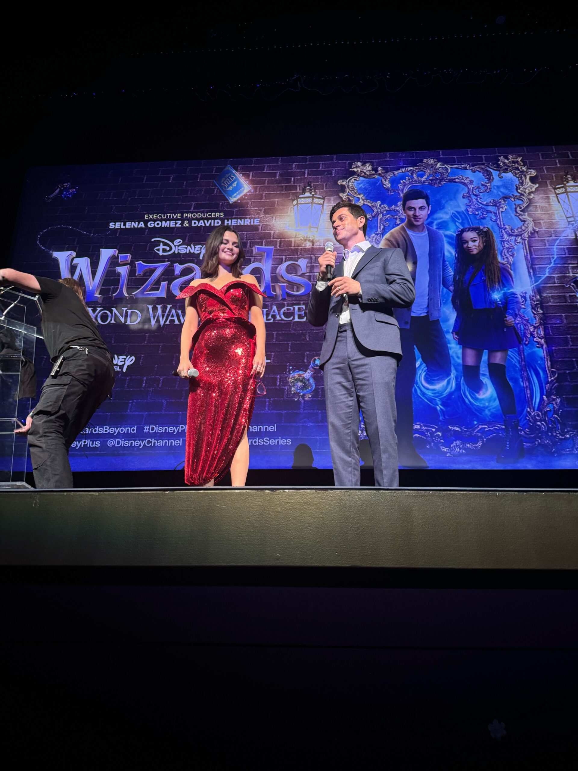
<path fill-rule="evenodd" d="M 520 308 L 512 271 L 498 259 L 496 239 L 489 227 L 462 227 L 455 236 L 454 290 L 456 311 L 452 331 L 462 346 L 465 385 L 479 393 L 483 388 L 479 365 L 488 352 L 488 372 L 504 416 L 506 441 L 496 461 L 516 463 L 524 456 L 519 433 L 516 397 L 506 375 L 510 348 L 519 345 L 514 319 Z"/>

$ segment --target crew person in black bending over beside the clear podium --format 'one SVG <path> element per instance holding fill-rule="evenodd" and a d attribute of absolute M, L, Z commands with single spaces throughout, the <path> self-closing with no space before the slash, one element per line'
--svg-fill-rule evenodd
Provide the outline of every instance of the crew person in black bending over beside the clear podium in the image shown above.
<path fill-rule="evenodd" d="M 23 429 L 36 487 L 72 487 L 69 448 L 114 385 L 113 359 L 73 278 L 0 270 L 0 284 L 42 298 L 42 334 L 52 371 Z"/>

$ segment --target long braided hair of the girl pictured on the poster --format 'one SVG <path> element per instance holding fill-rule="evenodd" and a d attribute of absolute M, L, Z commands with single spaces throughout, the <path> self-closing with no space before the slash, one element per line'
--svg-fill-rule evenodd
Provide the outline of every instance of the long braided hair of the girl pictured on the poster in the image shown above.
<path fill-rule="evenodd" d="M 480 241 L 482 241 L 482 251 L 474 255 L 473 258 L 462 246 L 462 236 L 464 233 L 476 233 L 478 234 Z M 467 227 L 462 227 L 462 229 L 455 234 L 454 291 L 452 294 L 452 305 L 456 311 L 463 312 L 472 307 L 469 297 L 469 286 L 466 287 L 464 285 L 465 273 L 470 266 L 473 266 L 474 268 L 472 278 L 484 268 L 484 273 L 486 274 L 486 286 L 490 292 L 499 291 L 503 287 L 501 269 L 506 268 L 506 270 L 509 271 L 509 267 L 506 263 L 499 261 L 496 238 L 490 228 L 485 225 L 468 225 Z"/>

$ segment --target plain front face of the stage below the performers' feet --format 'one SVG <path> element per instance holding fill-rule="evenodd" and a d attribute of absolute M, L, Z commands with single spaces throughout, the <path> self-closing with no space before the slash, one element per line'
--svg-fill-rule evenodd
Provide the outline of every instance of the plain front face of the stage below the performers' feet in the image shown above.
<path fill-rule="evenodd" d="M 0 566 L 567 574 L 576 502 L 576 490 L 11 490 Z"/>

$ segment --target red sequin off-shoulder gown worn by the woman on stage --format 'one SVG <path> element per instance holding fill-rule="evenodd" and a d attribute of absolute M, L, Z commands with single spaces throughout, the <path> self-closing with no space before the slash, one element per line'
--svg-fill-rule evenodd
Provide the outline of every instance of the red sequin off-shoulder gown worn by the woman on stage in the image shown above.
<path fill-rule="evenodd" d="M 252 293 L 263 295 L 247 281 L 229 281 L 217 288 L 204 283 L 187 287 L 177 299 L 193 298 L 200 324 L 193 335 L 193 367 L 187 411 L 185 482 L 216 482 L 230 469 L 255 402 L 256 379 L 250 376 L 256 350 L 249 311 Z"/>

